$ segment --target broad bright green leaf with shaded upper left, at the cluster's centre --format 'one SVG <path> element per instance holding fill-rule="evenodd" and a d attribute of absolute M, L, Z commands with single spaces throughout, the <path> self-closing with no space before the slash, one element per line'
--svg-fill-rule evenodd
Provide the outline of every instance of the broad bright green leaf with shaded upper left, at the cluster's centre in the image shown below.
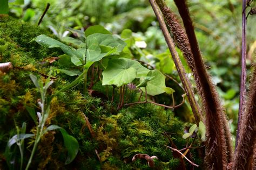
<path fill-rule="evenodd" d="M 137 70 L 124 59 L 112 59 L 103 71 L 102 85 L 123 86 L 132 82 L 137 75 Z"/>

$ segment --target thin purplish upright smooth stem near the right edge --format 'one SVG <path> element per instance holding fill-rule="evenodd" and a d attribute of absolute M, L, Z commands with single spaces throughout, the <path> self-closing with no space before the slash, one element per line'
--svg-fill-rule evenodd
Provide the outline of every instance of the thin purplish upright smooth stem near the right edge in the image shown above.
<path fill-rule="evenodd" d="M 237 121 L 237 137 L 235 139 L 235 152 L 237 151 L 237 144 L 240 134 L 240 124 L 242 115 L 244 114 L 244 104 L 246 96 L 246 17 L 245 10 L 246 0 L 242 0 L 242 52 L 241 52 L 241 77 L 240 77 L 240 102 L 238 111 L 238 121 Z"/>

